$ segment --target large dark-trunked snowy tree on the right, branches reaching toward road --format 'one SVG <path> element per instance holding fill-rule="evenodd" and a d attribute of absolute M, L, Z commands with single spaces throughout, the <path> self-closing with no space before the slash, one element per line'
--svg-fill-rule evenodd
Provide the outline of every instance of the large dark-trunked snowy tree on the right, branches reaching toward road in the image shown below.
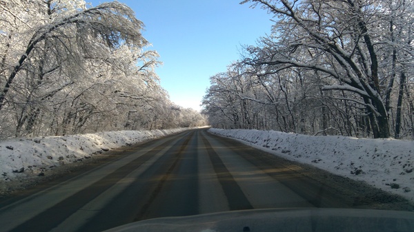
<path fill-rule="evenodd" d="M 262 46 L 250 47 L 246 63 L 260 66 L 266 72 L 293 68 L 313 70 L 334 80 L 323 90 L 348 92 L 357 97 L 341 97 L 342 101 L 364 107 L 375 138 L 391 136 L 386 92 L 393 86 L 392 74 L 382 68 L 383 51 L 395 48 L 384 30 L 385 1 L 265 1 L 251 0 L 274 14 L 273 37 L 262 40 Z M 411 5 L 411 1 L 405 1 Z M 393 21 L 412 21 L 411 14 L 394 14 Z M 387 21 L 389 23 L 389 20 Z M 408 28 L 407 28 L 408 26 Z M 406 25 L 404 32 L 411 31 Z M 389 28 L 389 25 L 388 25 Z M 394 38 L 397 36 L 394 34 Z M 405 41 L 400 54 L 412 51 Z M 402 43 L 398 43 L 402 45 Z"/>

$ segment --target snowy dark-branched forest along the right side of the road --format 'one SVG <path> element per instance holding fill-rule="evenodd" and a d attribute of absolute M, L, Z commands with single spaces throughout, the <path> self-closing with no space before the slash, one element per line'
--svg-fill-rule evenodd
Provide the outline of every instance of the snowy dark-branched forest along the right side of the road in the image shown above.
<path fill-rule="evenodd" d="M 412 0 L 246 0 L 271 33 L 210 77 L 213 127 L 414 139 Z"/>

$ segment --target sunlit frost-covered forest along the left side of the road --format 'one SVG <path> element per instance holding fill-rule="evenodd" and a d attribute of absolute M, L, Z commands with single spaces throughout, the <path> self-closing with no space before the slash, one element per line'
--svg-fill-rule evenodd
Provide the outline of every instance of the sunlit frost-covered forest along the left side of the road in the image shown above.
<path fill-rule="evenodd" d="M 117 1 L 0 1 L 0 139 L 206 124 L 170 101 L 144 23 Z"/>

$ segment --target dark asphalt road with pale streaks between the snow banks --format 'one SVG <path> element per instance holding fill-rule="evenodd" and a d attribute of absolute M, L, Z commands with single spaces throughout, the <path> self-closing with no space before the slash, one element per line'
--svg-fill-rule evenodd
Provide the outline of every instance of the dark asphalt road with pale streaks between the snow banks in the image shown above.
<path fill-rule="evenodd" d="M 302 167 L 206 129 L 142 143 L 111 162 L 0 204 L 0 231 L 102 231 L 168 216 L 352 207 Z"/>

